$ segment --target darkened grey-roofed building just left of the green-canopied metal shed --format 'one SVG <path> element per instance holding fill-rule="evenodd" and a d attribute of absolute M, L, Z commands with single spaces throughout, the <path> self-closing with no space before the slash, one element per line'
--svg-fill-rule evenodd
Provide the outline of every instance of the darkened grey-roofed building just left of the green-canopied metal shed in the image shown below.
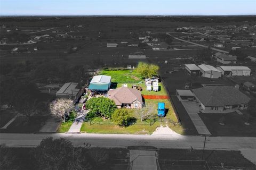
<path fill-rule="evenodd" d="M 68 82 L 65 83 L 57 92 L 57 98 L 69 98 L 73 101 L 77 101 L 78 98 L 82 95 L 82 90 L 77 88 L 78 83 Z"/>

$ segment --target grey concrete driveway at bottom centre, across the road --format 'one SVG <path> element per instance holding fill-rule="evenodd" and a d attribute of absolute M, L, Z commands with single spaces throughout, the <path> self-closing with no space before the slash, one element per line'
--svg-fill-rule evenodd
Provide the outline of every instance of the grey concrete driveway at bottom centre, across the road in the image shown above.
<path fill-rule="evenodd" d="M 156 170 L 155 150 L 130 150 L 130 170 Z"/>

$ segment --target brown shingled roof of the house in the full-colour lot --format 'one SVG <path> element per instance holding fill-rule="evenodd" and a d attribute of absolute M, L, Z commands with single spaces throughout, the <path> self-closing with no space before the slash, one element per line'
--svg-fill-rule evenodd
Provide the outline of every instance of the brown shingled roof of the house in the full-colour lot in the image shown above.
<path fill-rule="evenodd" d="M 131 89 L 127 87 L 121 87 L 108 91 L 108 98 L 113 99 L 116 105 L 130 104 L 133 101 L 138 100 L 143 103 L 141 92 L 137 89 Z"/>

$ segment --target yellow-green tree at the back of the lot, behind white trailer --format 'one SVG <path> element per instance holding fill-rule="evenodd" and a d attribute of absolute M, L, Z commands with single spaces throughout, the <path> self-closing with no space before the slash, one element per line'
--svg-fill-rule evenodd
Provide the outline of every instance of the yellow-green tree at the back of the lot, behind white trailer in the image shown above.
<path fill-rule="evenodd" d="M 139 62 L 136 70 L 142 75 L 142 77 L 151 78 L 154 75 L 157 75 L 159 66 L 155 64 Z"/>

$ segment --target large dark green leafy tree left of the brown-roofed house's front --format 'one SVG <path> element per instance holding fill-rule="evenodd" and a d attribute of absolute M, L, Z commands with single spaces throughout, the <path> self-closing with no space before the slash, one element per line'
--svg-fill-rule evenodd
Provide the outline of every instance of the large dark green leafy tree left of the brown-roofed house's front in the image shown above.
<path fill-rule="evenodd" d="M 107 118 L 114 113 L 116 104 L 114 100 L 107 97 L 93 97 L 86 101 L 86 107 L 91 109 L 91 112 Z"/>

